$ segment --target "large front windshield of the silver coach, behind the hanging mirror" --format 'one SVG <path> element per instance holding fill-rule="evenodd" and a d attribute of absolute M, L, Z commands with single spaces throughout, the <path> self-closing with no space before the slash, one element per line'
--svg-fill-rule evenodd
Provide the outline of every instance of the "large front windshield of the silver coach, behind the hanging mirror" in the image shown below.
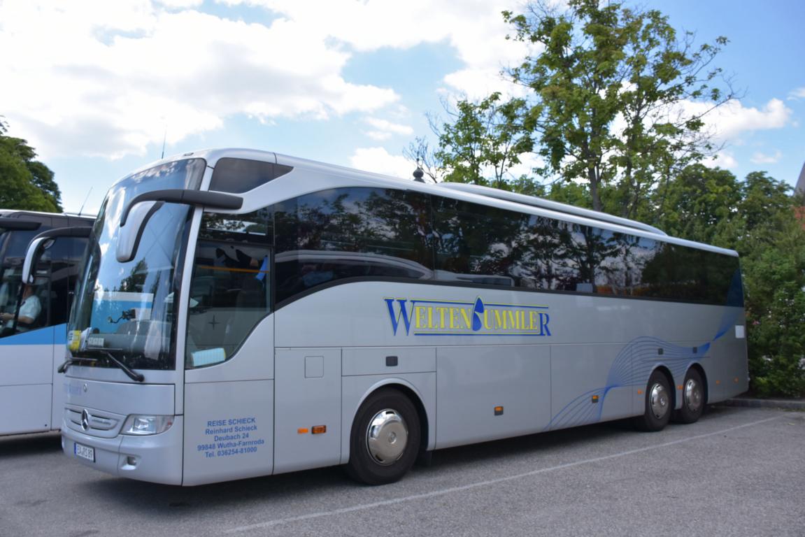
<path fill-rule="evenodd" d="M 136 256 L 115 256 L 123 209 L 143 192 L 197 189 L 203 159 L 161 164 L 115 184 L 106 196 L 89 239 L 84 272 L 76 289 L 68 331 L 73 360 L 96 366 L 172 370 L 175 367 L 175 297 L 187 245 L 191 209 L 164 204 L 142 229 Z"/>

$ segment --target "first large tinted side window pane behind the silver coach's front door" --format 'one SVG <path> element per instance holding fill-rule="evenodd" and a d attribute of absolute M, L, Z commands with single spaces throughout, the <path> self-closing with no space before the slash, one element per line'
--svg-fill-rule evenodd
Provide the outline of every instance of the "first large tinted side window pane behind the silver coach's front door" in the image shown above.
<path fill-rule="evenodd" d="M 338 279 L 432 277 L 427 196 L 337 188 L 273 211 L 278 302 Z"/>

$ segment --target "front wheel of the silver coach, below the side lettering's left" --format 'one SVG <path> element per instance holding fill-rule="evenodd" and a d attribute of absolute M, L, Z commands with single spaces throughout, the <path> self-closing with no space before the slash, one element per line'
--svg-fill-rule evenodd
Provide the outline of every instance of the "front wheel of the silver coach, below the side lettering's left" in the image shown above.
<path fill-rule="evenodd" d="M 399 481 L 419 455 L 419 415 L 411 399 L 382 388 L 361 404 L 349 436 L 349 477 L 366 485 Z"/>

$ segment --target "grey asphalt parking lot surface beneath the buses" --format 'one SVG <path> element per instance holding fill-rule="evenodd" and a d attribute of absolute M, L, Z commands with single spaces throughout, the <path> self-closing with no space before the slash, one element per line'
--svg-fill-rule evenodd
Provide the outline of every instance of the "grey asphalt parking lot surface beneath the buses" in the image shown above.
<path fill-rule="evenodd" d="M 0 437 L 0 535 L 805 535 L 805 413 L 712 407 L 436 452 L 403 481 L 328 468 L 180 488 Z"/>

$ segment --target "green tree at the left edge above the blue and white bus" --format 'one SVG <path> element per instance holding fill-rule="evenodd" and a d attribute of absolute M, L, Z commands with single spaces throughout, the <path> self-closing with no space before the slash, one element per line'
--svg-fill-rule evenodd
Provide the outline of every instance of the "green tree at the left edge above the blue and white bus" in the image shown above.
<path fill-rule="evenodd" d="M 53 172 L 35 160 L 36 152 L 22 138 L 6 136 L 0 120 L 0 208 L 61 213 L 61 192 Z"/>

